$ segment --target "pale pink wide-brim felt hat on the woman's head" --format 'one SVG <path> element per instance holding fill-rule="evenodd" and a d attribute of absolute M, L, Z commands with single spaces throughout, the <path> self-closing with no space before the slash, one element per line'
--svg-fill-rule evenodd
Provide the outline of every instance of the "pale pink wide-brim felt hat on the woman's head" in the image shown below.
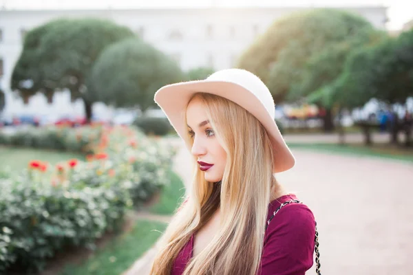
<path fill-rule="evenodd" d="M 293 168 L 295 158 L 274 120 L 273 96 L 255 74 L 244 69 L 223 69 L 205 80 L 166 85 L 156 91 L 155 102 L 165 112 L 169 122 L 183 140 L 188 132 L 185 124 L 187 104 L 191 96 L 198 92 L 227 98 L 254 115 L 271 137 L 274 173 Z"/>

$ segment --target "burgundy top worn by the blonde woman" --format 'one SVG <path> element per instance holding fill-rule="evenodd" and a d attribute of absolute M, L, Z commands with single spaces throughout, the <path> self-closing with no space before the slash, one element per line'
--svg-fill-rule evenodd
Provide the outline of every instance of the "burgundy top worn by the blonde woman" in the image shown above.
<path fill-rule="evenodd" d="M 295 195 L 284 195 L 268 205 L 267 221 L 273 212 Z M 181 275 L 193 256 L 194 234 L 178 254 L 171 275 Z M 313 265 L 315 219 L 302 203 L 284 206 L 271 220 L 264 235 L 260 275 L 304 275 Z"/>

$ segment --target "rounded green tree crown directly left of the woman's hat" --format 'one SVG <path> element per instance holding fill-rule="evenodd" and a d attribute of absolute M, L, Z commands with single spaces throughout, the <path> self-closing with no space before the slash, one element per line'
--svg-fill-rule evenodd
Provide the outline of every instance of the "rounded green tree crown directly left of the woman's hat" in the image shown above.
<path fill-rule="evenodd" d="M 92 69 L 92 87 L 98 99 L 116 107 L 151 106 L 162 86 L 184 80 L 178 64 L 140 39 L 127 39 L 103 52 Z"/>

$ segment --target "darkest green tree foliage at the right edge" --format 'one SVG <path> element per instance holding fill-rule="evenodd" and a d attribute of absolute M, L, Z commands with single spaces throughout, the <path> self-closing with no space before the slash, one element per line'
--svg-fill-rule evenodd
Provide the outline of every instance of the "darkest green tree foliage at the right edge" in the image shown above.
<path fill-rule="evenodd" d="M 413 31 L 354 52 L 326 96 L 346 107 L 363 106 L 371 98 L 403 104 L 413 96 Z"/>

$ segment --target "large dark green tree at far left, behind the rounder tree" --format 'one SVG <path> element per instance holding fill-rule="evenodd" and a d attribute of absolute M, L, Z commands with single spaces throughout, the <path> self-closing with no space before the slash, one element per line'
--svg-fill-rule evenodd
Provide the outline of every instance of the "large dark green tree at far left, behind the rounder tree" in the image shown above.
<path fill-rule="evenodd" d="M 42 92 L 49 102 L 54 91 L 68 89 L 81 98 L 89 120 L 97 95 L 89 91 L 92 66 L 105 47 L 134 36 L 124 26 L 103 19 L 59 19 L 28 32 L 14 67 L 12 89 L 27 102 Z"/>

